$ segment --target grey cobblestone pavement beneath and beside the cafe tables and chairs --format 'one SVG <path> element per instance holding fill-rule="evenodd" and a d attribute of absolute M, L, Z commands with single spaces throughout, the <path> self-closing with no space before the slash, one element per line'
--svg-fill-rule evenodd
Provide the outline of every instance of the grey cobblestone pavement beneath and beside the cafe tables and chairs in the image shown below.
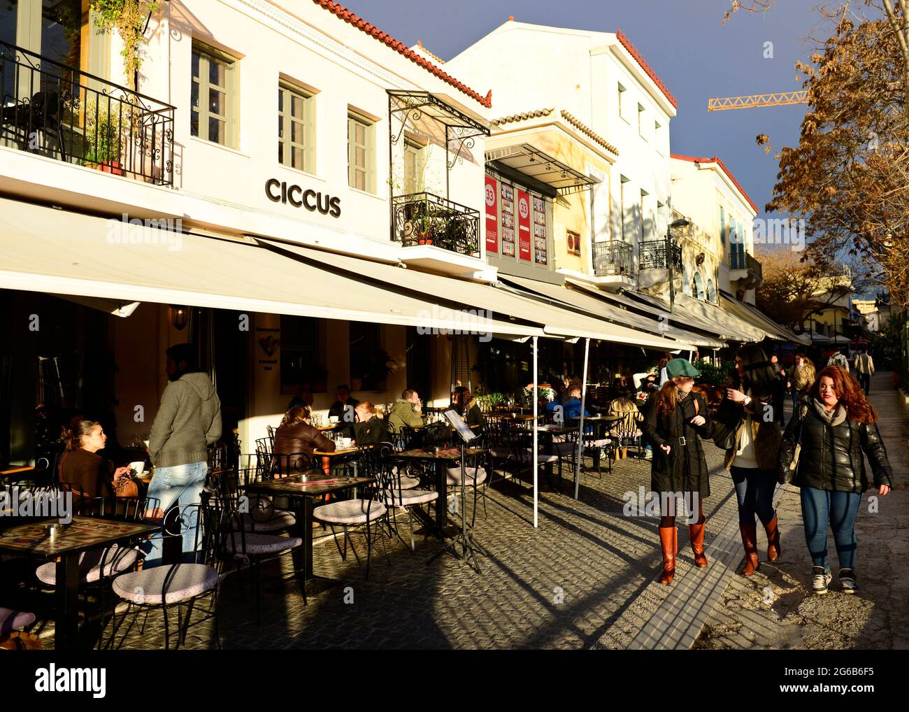
<path fill-rule="evenodd" d="M 705 450 L 715 473 L 704 506 L 709 555 L 714 532 L 735 505 L 732 482 L 720 470 L 722 453 Z M 625 493 L 636 496 L 649 485 L 650 462 L 628 457 L 602 479 L 583 474 L 580 502 L 543 486 L 534 529 L 530 489 L 497 483 L 488 490 L 488 517 L 480 505 L 476 519 L 475 537 L 489 552 L 480 557 L 482 575 L 448 556 L 427 566 L 440 544 L 417 537 L 415 553 L 400 541 L 390 544 L 391 566 L 374 557 L 365 580 L 352 557 L 342 563 L 333 541 L 317 542 L 315 572 L 342 584 L 310 593 L 305 606 L 294 583 L 266 582 L 261 625 L 248 587 L 244 592 L 232 574 L 220 608 L 223 646 L 624 648 L 670 589 L 655 580 L 662 569 L 656 520 L 623 513 Z M 362 553 L 362 537 L 355 542 Z M 681 522 L 679 547 L 676 580 L 700 575 Z M 353 603 L 345 603 L 350 593 Z M 145 634 L 132 634 L 125 647 L 163 647 L 163 633 L 160 614 L 153 614 Z M 50 627 L 42 637 L 53 645 Z M 190 629 L 186 647 L 213 646 L 210 624 Z"/>

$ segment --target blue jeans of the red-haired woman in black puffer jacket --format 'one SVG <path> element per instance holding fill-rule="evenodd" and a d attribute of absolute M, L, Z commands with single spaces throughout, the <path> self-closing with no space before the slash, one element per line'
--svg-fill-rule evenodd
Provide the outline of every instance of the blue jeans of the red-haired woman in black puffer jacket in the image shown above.
<path fill-rule="evenodd" d="M 834 530 L 840 568 L 855 568 L 855 515 L 862 503 L 861 492 L 830 492 L 802 487 L 804 540 L 815 567 L 827 564 L 827 525 Z"/>

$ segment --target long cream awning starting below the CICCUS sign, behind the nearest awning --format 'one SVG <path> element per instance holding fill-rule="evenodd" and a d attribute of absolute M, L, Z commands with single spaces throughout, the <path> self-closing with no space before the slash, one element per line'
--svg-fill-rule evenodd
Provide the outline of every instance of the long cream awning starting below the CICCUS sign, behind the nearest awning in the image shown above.
<path fill-rule="evenodd" d="M 661 336 L 644 334 L 641 331 L 617 326 L 583 316 L 558 306 L 543 304 L 532 297 L 519 296 L 513 292 L 492 285 L 480 285 L 474 282 L 454 279 L 439 275 L 430 275 L 400 266 L 383 265 L 377 262 L 335 255 L 314 250 L 309 247 L 279 243 L 265 238 L 256 238 L 264 245 L 271 246 L 288 255 L 296 255 L 308 264 L 325 266 L 345 275 L 366 278 L 373 284 L 395 288 L 401 294 L 418 298 L 443 298 L 456 300 L 461 304 L 474 307 L 493 318 L 504 321 L 509 318 L 522 319 L 542 324 L 548 336 L 594 338 L 602 341 L 656 348 L 664 351 L 677 349 L 678 342 Z"/>

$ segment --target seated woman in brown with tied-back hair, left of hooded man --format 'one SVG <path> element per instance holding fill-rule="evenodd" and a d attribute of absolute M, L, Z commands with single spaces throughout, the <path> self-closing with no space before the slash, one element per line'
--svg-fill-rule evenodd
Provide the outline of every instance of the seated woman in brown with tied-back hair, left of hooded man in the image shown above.
<path fill-rule="evenodd" d="M 129 467 L 115 467 L 103 450 L 107 436 L 100 423 L 80 420 L 65 431 L 66 452 L 60 461 L 60 481 L 86 497 L 115 496 L 114 483 Z"/>

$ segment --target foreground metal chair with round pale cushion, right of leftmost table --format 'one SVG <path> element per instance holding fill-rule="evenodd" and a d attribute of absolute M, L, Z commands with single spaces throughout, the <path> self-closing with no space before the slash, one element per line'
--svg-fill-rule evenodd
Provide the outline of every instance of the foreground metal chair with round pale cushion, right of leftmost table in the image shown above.
<path fill-rule="evenodd" d="M 216 496 L 203 495 L 201 505 L 185 505 L 168 511 L 164 521 L 165 537 L 180 537 L 193 532 L 195 551 L 192 561 L 161 567 L 146 568 L 129 574 L 121 574 L 113 581 L 115 596 L 126 602 L 126 610 L 111 621 L 111 633 L 105 647 L 123 647 L 126 637 L 135 626 L 137 618 L 145 613 L 140 635 L 145 632 L 145 623 L 153 610 L 160 610 L 164 618 L 165 649 L 170 649 L 171 616 L 176 608 L 175 647 L 185 644 L 186 633 L 191 625 L 198 625 L 214 618 L 215 642 L 221 647 L 218 634 L 217 604 L 221 581 L 224 578 L 225 533 L 229 513 Z M 207 602 L 203 617 L 191 624 L 197 601 Z M 126 620 L 120 645 L 115 646 L 116 636 Z M 103 639 L 103 635 L 102 635 Z"/>

